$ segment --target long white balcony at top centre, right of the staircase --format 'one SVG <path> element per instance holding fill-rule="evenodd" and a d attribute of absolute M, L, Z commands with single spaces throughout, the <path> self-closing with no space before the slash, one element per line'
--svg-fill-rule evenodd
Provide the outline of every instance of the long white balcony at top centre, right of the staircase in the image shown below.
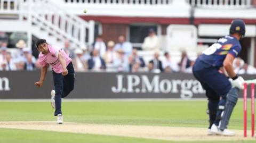
<path fill-rule="evenodd" d="M 103 16 L 181 17 L 188 18 L 190 5 L 186 0 L 57 0 L 73 14 Z"/>

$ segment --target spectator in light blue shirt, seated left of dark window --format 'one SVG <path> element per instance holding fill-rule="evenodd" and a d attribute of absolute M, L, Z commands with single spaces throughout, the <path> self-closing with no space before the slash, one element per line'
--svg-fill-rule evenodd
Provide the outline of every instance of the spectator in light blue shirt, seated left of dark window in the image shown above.
<path fill-rule="evenodd" d="M 118 42 L 115 47 L 114 51 L 118 51 L 118 49 L 122 49 L 124 51 L 125 56 L 129 56 L 132 54 L 132 44 L 129 41 L 125 41 L 125 37 L 120 35 L 118 37 Z"/>

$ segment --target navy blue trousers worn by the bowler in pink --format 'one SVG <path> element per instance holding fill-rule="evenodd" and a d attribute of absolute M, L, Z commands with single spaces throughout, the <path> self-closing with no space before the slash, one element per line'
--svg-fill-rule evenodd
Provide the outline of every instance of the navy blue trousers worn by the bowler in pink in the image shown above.
<path fill-rule="evenodd" d="M 55 89 L 55 112 L 54 116 L 62 114 L 61 98 L 65 98 L 74 89 L 75 71 L 72 62 L 67 66 L 68 74 L 63 77 L 61 73 L 53 71 L 53 83 Z"/>

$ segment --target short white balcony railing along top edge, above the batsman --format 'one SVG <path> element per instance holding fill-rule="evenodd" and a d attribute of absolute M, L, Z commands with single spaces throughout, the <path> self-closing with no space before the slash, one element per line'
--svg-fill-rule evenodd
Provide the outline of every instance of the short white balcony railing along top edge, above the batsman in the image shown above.
<path fill-rule="evenodd" d="M 187 0 L 191 6 L 244 8 L 252 6 L 252 0 Z"/>

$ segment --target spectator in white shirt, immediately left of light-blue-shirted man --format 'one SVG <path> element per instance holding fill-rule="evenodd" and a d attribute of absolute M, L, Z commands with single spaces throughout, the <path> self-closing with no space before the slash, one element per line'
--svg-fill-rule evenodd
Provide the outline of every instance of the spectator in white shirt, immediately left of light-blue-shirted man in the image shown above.
<path fill-rule="evenodd" d="M 103 55 L 103 59 L 106 61 L 106 63 L 113 63 L 118 56 L 117 53 L 114 51 L 114 46 L 114 41 L 108 41 L 107 52 Z"/>

